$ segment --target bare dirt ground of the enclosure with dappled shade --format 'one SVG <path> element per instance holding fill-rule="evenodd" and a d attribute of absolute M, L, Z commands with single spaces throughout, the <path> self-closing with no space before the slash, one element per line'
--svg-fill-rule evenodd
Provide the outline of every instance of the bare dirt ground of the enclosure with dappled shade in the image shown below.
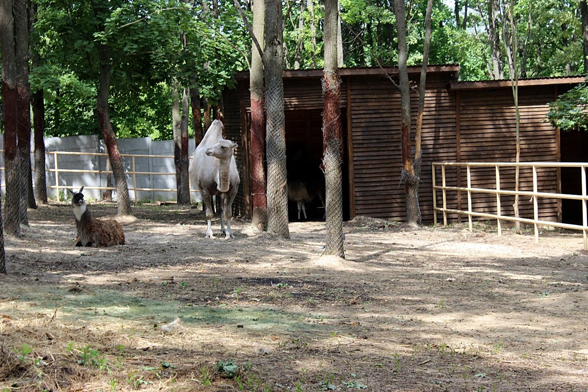
<path fill-rule="evenodd" d="M 579 232 L 358 217 L 339 259 L 323 222 L 224 240 L 195 207 L 133 214 L 122 246 L 75 247 L 66 203 L 6 237 L 0 391 L 588 390 Z"/>

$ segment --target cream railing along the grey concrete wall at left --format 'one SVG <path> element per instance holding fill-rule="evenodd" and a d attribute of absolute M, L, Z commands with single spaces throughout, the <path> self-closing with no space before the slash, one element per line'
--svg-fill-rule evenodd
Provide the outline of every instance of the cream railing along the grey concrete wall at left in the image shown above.
<path fill-rule="evenodd" d="M 4 153 L 4 150 L 0 149 L 1 153 Z M 34 152 L 31 152 L 34 154 Z M 93 173 L 96 175 L 109 175 L 112 174 L 112 170 L 88 170 L 88 169 L 62 169 L 59 167 L 59 156 L 65 155 L 79 155 L 79 156 L 103 156 L 108 158 L 107 153 L 95 153 L 95 152 L 69 152 L 69 151 L 48 151 L 45 152 L 45 155 L 53 156 L 52 162 L 54 164 L 53 168 L 46 168 L 47 177 L 53 176 L 55 179 L 55 185 L 47 186 L 48 189 L 55 189 L 56 198 L 59 201 L 60 199 L 60 189 L 66 189 L 66 186 L 59 185 L 59 175 L 63 173 Z M 123 158 L 130 158 L 131 159 L 131 170 L 125 170 L 125 175 L 131 177 L 133 186 L 129 187 L 129 192 L 134 192 L 135 201 L 138 201 L 137 192 L 138 191 L 155 191 L 155 192 L 177 192 L 176 188 L 156 188 L 156 187 L 137 187 L 137 177 L 138 176 L 175 176 L 175 172 L 141 172 L 136 170 L 135 165 L 135 158 L 149 158 L 149 159 L 173 159 L 173 155 L 146 155 L 146 154 L 121 154 Z M 192 159 L 192 157 L 188 157 Z M 0 167 L 0 171 L 4 172 L 5 168 Z M 33 167 L 33 170 L 34 167 Z M 5 176 L 2 175 L 2 180 L 4 180 Z M 2 183 L 4 186 L 4 183 Z M 99 189 L 99 190 L 116 190 L 116 187 L 108 187 L 108 186 L 85 186 L 84 189 Z M 198 190 L 190 190 L 192 193 L 198 193 Z"/>

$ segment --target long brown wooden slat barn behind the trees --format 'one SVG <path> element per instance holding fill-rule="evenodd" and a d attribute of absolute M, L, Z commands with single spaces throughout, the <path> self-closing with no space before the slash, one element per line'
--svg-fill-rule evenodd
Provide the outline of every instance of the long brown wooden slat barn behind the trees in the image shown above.
<path fill-rule="evenodd" d="M 397 69 L 345 68 L 339 72 L 345 143 L 343 217 L 353 219 L 365 215 L 404 220 L 405 193 L 400 182 L 400 92 L 386 76 L 387 73 L 395 78 Z M 409 77 L 415 86 L 419 76 L 420 66 L 409 67 Z M 419 189 L 425 223 L 433 222 L 432 162 L 515 161 L 515 108 L 510 81 L 458 82 L 458 76 L 458 65 L 433 65 L 427 70 Z M 289 180 L 312 181 L 321 175 L 321 78 L 322 70 L 283 73 Z M 584 135 L 560 133 L 545 120 L 547 103 L 583 80 L 583 76 L 578 76 L 519 81 L 522 162 L 585 160 L 588 150 Z M 227 137 L 238 142 L 240 147 L 237 158 L 242 180 L 235 200 L 235 213 L 250 217 L 248 73 L 239 73 L 236 81 L 235 89 L 223 93 L 223 114 Z M 417 102 L 415 88 L 412 96 L 413 127 L 416 125 Z M 577 187 L 572 180 L 567 180 L 568 174 L 557 169 L 543 170 L 540 191 L 556 192 L 561 188 L 566 192 Z M 482 186 L 492 179 L 480 172 L 473 180 L 473 186 Z M 447 185 L 459 186 L 462 182 L 465 183 L 464 173 L 457 172 L 448 179 Z M 514 183 L 514 170 L 501 176 L 503 189 L 509 189 L 509 182 Z M 521 173 L 521 184 L 521 189 L 529 189 L 529 186 L 532 189 L 530 173 Z M 485 205 L 483 197 L 476 202 L 479 206 Z M 448 206 L 455 208 L 462 203 L 467 205 L 465 195 L 453 197 Z M 572 212 L 576 206 L 562 207 L 556 200 L 543 200 L 542 203 L 541 219 L 561 221 L 566 216 L 576 216 Z M 509 213 L 512 202 L 505 200 L 503 206 L 505 213 Z M 295 206 L 290 208 L 290 220 L 293 220 Z M 532 215 L 532 211 L 531 202 L 521 202 L 521 216 Z M 309 206 L 309 215 L 309 219 L 322 219 L 323 210 L 318 199 Z"/>

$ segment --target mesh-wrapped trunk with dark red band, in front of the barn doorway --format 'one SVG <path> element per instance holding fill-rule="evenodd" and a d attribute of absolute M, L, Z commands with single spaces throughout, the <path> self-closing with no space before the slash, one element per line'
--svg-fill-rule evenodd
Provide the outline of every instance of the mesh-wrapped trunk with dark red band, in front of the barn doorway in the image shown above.
<path fill-rule="evenodd" d="M 323 167 L 326 189 L 326 245 L 323 254 L 345 257 L 341 165 L 341 78 L 338 72 L 339 1 L 325 0 L 325 69 L 323 71 Z"/>

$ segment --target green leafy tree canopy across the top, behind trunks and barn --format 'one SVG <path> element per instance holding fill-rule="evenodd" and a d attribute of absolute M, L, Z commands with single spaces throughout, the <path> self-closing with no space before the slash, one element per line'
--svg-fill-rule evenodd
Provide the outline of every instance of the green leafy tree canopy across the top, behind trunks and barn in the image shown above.
<path fill-rule="evenodd" d="M 251 20 L 250 3 L 240 1 Z M 503 45 L 497 52 L 490 48 L 489 9 L 500 1 L 435 0 L 429 63 L 457 63 L 461 80 L 484 80 L 495 77 L 495 56 L 507 75 Z M 108 2 L 102 32 L 88 0 L 36 4 L 31 52 L 40 61 L 31 66 L 30 82 L 32 92 L 44 91 L 46 136 L 99 133 L 99 42 L 112 48 L 110 104 L 118 138 L 171 139 L 172 81 L 188 88 L 197 83 L 201 96 L 215 105 L 232 85 L 232 75 L 249 67 L 250 39 L 232 1 Z M 580 0 L 516 0 L 513 5 L 521 78 L 584 72 Z M 285 68 L 322 68 L 324 3 L 286 0 L 282 9 Z M 406 4 L 408 65 L 422 62 L 425 11 L 426 0 Z M 343 66 L 397 65 L 393 1 L 340 0 L 339 12 Z"/>

